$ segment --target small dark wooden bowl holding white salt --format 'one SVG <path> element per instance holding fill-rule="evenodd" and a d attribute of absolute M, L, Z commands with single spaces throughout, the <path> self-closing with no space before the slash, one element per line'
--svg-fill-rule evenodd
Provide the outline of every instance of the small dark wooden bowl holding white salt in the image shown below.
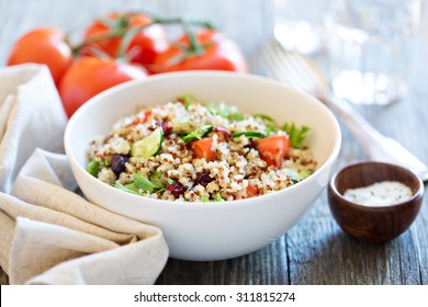
<path fill-rule="evenodd" d="M 364 206 L 343 197 L 345 191 L 382 181 L 398 181 L 410 187 L 413 196 L 390 206 Z M 415 220 L 424 195 L 421 180 L 409 170 L 383 162 L 359 162 L 331 177 L 328 204 L 340 228 L 352 237 L 384 242 L 398 237 Z"/>

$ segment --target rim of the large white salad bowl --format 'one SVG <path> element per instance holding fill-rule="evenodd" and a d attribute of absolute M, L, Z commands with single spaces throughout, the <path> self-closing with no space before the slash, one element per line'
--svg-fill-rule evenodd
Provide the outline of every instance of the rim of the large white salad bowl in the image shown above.
<path fill-rule="evenodd" d="M 70 132 L 71 132 L 72 127 L 76 125 L 76 122 L 77 122 L 77 118 L 79 117 L 79 115 L 81 113 L 83 113 L 88 107 L 91 107 L 93 103 L 101 103 L 103 98 L 108 96 L 111 92 L 123 91 L 123 90 L 126 90 L 127 88 L 132 88 L 132 87 L 135 87 L 135 86 L 140 84 L 140 83 L 155 82 L 158 79 L 164 80 L 164 79 L 169 79 L 169 78 L 173 79 L 173 78 L 179 78 L 179 77 L 194 77 L 194 76 L 196 76 L 196 77 L 226 76 L 226 77 L 234 77 L 234 78 L 237 77 L 237 78 L 241 78 L 241 79 L 250 79 L 250 80 L 256 80 L 259 82 L 284 87 L 284 88 L 289 89 L 290 91 L 299 92 L 300 94 L 303 94 L 307 98 L 311 98 L 312 100 L 314 100 L 314 99 L 316 100 L 316 98 L 314 98 L 314 96 L 312 96 L 303 91 L 299 91 L 299 90 L 282 86 L 281 83 L 279 83 L 272 79 L 269 79 L 269 78 L 262 77 L 262 76 L 258 76 L 258 75 L 252 75 L 252 73 L 221 71 L 221 70 L 191 70 L 191 71 L 173 71 L 173 72 L 153 75 L 153 76 L 149 76 L 143 80 L 127 81 L 127 82 L 124 82 L 122 84 L 110 88 L 110 89 L 97 94 L 95 96 L 91 98 L 89 101 L 87 101 L 82 106 L 80 106 L 75 112 L 75 114 L 68 121 L 66 129 L 65 129 L 65 134 L 64 134 L 64 146 L 65 146 L 65 150 L 66 150 L 66 155 L 67 155 L 68 159 L 71 160 L 70 162 L 78 166 L 78 171 L 85 172 L 87 174 L 88 180 L 92 181 L 95 185 L 102 186 L 101 189 L 104 189 L 104 187 L 114 189 L 114 190 L 116 190 L 117 193 L 124 193 L 123 195 L 126 195 L 125 197 L 131 197 L 131 200 L 134 200 L 134 201 L 142 200 L 142 197 L 143 197 L 143 201 L 145 201 L 145 202 L 142 202 L 142 205 L 144 205 L 144 206 L 154 205 L 154 206 L 165 206 L 165 207 L 173 206 L 176 209 L 178 207 L 180 207 L 180 208 L 181 207 L 182 208 L 191 207 L 194 209 L 196 209 L 196 208 L 206 209 L 207 207 L 209 208 L 210 207 L 211 208 L 214 208 L 214 207 L 218 207 L 218 208 L 230 207 L 232 208 L 235 206 L 243 206 L 246 204 L 249 205 L 249 204 L 254 204 L 255 202 L 259 203 L 266 198 L 272 197 L 273 194 L 278 195 L 278 193 L 284 193 L 286 191 L 301 189 L 302 185 L 309 184 L 309 181 L 312 181 L 312 179 L 314 179 L 317 173 L 322 172 L 325 168 L 327 168 L 327 166 L 330 166 L 333 163 L 333 161 L 335 159 L 337 159 L 339 151 L 340 151 L 340 146 L 341 146 L 340 127 L 339 127 L 339 124 L 338 124 L 335 115 L 331 113 L 331 111 L 319 101 L 318 101 L 319 106 L 324 107 L 324 111 L 326 112 L 326 114 L 330 117 L 331 122 L 334 123 L 335 130 L 337 133 L 337 140 L 335 143 L 335 147 L 333 148 L 328 159 L 320 167 L 318 167 L 315 170 L 315 172 L 312 173 L 308 178 L 306 178 L 305 180 L 303 180 L 303 181 L 301 181 L 292 186 L 289 186 L 289 187 L 285 187 L 285 189 L 282 189 L 282 190 L 279 190 L 279 191 L 275 191 L 272 193 L 245 198 L 245 200 L 234 200 L 234 201 L 225 201 L 225 202 L 207 202 L 207 203 L 203 203 L 203 202 L 174 202 L 174 201 L 157 200 L 157 198 L 150 198 L 147 196 L 134 195 L 134 194 L 131 194 L 131 193 L 127 193 L 124 191 L 120 191 L 113 186 L 110 186 L 109 184 L 105 184 L 104 182 L 101 182 L 97 178 L 92 177 L 91 174 L 89 174 L 87 172 L 87 170 L 82 166 L 80 166 L 80 163 L 77 161 L 77 159 L 71 155 L 71 150 L 69 148 Z M 328 182 L 326 182 L 326 184 Z"/>

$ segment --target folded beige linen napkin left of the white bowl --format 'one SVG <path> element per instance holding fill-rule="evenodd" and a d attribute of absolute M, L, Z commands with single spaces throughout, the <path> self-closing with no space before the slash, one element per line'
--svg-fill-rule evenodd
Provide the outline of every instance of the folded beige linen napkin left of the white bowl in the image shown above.
<path fill-rule="evenodd" d="M 72 192 L 60 154 L 67 120 L 47 68 L 0 68 L 0 265 L 10 283 L 155 283 L 168 259 L 161 230 Z"/>

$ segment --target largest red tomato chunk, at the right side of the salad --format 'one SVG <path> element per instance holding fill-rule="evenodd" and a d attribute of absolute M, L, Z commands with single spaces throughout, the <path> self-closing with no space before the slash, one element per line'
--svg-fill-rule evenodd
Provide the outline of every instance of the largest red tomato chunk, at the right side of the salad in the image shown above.
<path fill-rule="evenodd" d="M 281 168 L 282 161 L 290 150 L 290 139 L 284 135 L 271 136 L 257 140 L 260 158 L 268 166 Z"/>

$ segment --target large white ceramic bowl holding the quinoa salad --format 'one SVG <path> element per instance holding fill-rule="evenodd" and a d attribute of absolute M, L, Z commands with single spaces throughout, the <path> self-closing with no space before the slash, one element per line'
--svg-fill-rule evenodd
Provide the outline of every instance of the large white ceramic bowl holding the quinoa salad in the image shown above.
<path fill-rule="evenodd" d="M 318 162 L 304 181 L 285 190 L 223 203 L 174 203 L 119 191 L 86 170 L 89 143 L 105 135 L 119 117 L 140 104 L 164 104 L 182 93 L 207 102 L 224 101 L 241 113 L 263 113 L 280 123 L 312 128 L 308 141 Z M 272 242 L 292 226 L 328 183 L 340 149 L 335 116 L 316 99 L 251 75 L 221 71 L 173 72 L 110 89 L 70 118 L 65 148 L 76 180 L 89 201 L 162 229 L 170 257 L 212 261 L 243 255 Z"/>

